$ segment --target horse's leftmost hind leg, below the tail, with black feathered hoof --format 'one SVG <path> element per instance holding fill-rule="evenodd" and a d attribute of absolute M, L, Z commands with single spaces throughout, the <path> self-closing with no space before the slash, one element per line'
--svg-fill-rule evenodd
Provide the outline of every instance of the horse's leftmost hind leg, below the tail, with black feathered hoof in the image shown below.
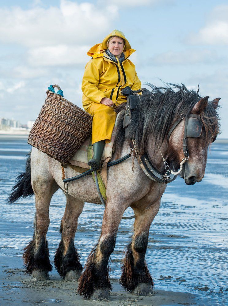
<path fill-rule="evenodd" d="M 24 249 L 23 259 L 25 273 L 32 275 L 33 279 L 41 281 L 49 279 L 48 272 L 52 270 L 46 234 L 50 223 L 49 205 L 58 186 L 52 177 L 39 176 L 32 180 L 32 189 L 36 203 L 34 234 L 32 241 Z"/>

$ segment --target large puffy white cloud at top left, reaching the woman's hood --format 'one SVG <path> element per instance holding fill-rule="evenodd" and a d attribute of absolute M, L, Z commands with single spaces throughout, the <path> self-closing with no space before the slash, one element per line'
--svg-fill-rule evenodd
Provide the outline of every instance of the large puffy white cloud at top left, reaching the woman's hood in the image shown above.
<path fill-rule="evenodd" d="M 61 0 L 60 7 L 0 9 L 0 41 L 27 47 L 85 44 L 107 34 L 117 7 Z"/>

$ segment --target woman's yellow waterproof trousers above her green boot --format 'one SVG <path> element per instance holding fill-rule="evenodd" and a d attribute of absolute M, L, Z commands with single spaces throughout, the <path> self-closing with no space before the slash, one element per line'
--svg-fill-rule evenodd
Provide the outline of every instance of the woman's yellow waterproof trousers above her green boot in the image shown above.
<path fill-rule="evenodd" d="M 92 145 L 100 140 L 105 140 L 105 143 L 110 142 L 116 121 L 114 108 L 100 103 L 93 103 L 86 111 L 93 116 Z"/>

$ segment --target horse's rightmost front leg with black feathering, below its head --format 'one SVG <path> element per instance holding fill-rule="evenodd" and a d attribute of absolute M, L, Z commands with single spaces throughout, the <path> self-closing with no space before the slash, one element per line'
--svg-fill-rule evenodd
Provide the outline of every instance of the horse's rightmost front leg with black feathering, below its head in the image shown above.
<path fill-rule="evenodd" d="M 135 212 L 134 235 L 125 252 L 124 265 L 121 267 L 120 284 L 133 294 L 146 296 L 153 294 L 153 279 L 145 262 L 149 229 L 158 213 L 160 199 L 147 209 L 137 209 Z"/>

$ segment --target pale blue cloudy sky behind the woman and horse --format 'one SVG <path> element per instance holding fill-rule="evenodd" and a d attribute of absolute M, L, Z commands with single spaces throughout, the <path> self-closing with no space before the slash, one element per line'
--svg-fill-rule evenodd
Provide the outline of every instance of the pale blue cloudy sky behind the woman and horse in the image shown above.
<path fill-rule="evenodd" d="M 0 117 L 36 119 L 51 84 L 82 107 L 86 52 L 114 29 L 136 49 L 144 87 L 199 84 L 201 96 L 221 97 L 228 138 L 227 0 L 0 0 Z"/>

